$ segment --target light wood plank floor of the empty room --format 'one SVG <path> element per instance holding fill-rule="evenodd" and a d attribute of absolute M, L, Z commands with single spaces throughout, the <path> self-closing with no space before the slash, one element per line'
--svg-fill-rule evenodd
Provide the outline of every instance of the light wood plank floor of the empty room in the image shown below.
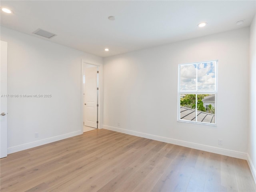
<path fill-rule="evenodd" d="M 255 192 L 246 160 L 93 130 L 0 160 L 1 192 Z"/>

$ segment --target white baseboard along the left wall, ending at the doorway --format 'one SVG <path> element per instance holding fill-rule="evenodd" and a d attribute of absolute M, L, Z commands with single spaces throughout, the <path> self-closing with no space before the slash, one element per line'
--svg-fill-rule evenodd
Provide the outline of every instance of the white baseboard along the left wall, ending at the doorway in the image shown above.
<path fill-rule="evenodd" d="M 25 149 L 30 149 L 30 148 L 33 148 L 33 147 L 37 147 L 37 146 L 40 146 L 40 145 L 44 145 L 44 144 L 48 144 L 48 143 L 51 143 L 51 142 L 59 141 L 59 140 L 66 139 L 66 138 L 69 138 L 69 137 L 77 136 L 77 135 L 80 135 L 82 133 L 83 132 L 81 130 L 79 130 L 79 131 L 74 131 L 74 132 L 71 132 L 71 133 L 63 134 L 63 135 L 58 135 L 58 136 L 55 136 L 55 137 L 50 137 L 50 138 L 46 138 L 46 139 L 42 139 L 42 140 L 38 140 L 38 141 L 26 143 L 26 144 L 22 144 L 22 145 L 10 147 L 10 148 L 7 148 L 7 154 L 15 153 L 15 152 L 22 151 L 22 150 L 25 150 Z"/>

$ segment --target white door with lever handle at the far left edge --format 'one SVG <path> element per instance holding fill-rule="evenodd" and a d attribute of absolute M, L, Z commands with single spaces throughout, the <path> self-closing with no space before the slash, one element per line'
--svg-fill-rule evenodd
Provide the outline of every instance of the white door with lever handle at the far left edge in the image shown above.
<path fill-rule="evenodd" d="M 0 158 L 7 156 L 7 42 L 1 41 L 0 63 Z"/>

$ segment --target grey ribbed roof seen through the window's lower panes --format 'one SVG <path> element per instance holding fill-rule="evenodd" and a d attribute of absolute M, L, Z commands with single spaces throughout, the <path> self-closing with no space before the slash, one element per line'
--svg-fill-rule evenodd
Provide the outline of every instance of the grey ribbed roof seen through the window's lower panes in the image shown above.
<path fill-rule="evenodd" d="M 215 123 L 215 115 L 211 113 L 206 113 L 202 111 L 197 111 L 197 121 L 198 122 L 205 122 L 205 123 Z M 196 110 L 187 108 L 187 107 L 180 107 L 180 119 L 182 120 L 190 120 L 196 121 Z"/>

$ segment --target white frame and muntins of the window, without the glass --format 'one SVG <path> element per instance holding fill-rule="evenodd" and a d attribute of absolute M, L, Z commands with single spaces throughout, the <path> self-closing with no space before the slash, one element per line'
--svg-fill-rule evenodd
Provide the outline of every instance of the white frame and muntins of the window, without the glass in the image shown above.
<path fill-rule="evenodd" d="M 197 84 L 198 84 L 198 64 L 202 64 L 202 63 L 210 63 L 210 62 L 215 62 L 215 90 L 214 91 L 198 91 L 198 90 L 194 90 L 194 91 L 190 91 L 190 90 L 180 90 L 180 68 L 181 66 L 184 65 L 195 65 L 196 64 L 196 88 L 197 88 Z M 192 120 L 183 120 L 180 119 L 180 95 L 181 94 L 195 94 L 196 95 L 196 108 L 195 108 L 195 112 L 196 112 L 196 116 L 195 116 L 195 121 Z M 214 103 L 214 123 L 208 123 L 208 122 L 198 122 L 197 120 L 197 102 L 198 102 L 198 95 L 200 94 L 215 94 L 215 103 Z M 217 95 L 218 95 L 218 60 L 208 60 L 208 61 L 202 61 L 202 62 L 193 62 L 193 63 L 185 63 L 185 64 L 179 64 L 178 65 L 178 115 L 177 115 L 177 121 L 178 122 L 186 122 L 186 123 L 192 123 L 192 124 L 203 124 L 203 125 L 209 125 L 209 126 L 217 126 L 217 120 L 216 120 L 216 116 L 217 116 Z"/>

